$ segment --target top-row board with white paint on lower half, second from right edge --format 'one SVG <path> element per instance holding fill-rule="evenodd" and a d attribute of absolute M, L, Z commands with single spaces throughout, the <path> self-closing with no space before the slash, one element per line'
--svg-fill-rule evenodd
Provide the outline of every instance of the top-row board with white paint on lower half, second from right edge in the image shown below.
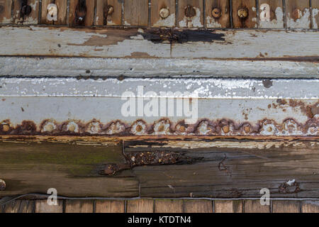
<path fill-rule="evenodd" d="M 286 0 L 287 28 L 310 28 L 309 1 Z"/>

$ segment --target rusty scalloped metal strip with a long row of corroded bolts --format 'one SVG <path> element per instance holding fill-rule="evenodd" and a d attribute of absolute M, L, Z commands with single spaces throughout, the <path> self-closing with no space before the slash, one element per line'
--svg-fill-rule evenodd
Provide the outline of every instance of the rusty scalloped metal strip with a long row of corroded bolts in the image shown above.
<path fill-rule="evenodd" d="M 235 123 L 229 119 L 212 121 L 201 119 L 194 124 L 185 121 L 173 123 L 162 118 L 154 123 L 138 120 L 133 123 L 112 121 L 101 123 L 93 119 L 88 123 L 82 121 L 65 121 L 58 123 L 47 119 L 37 126 L 33 121 L 23 121 L 13 126 L 10 120 L 0 122 L 0 135 L 221 135 L 221 136 L 318 136 L 319 118 L 313 108 L 307 108 L 309 120 L 305 124 L 292 118 L 282 123 L 271 119 L 263 119 L 252 125 L 249 122 Z M 318 111 L 315 109 L 315 111 Z"/>

